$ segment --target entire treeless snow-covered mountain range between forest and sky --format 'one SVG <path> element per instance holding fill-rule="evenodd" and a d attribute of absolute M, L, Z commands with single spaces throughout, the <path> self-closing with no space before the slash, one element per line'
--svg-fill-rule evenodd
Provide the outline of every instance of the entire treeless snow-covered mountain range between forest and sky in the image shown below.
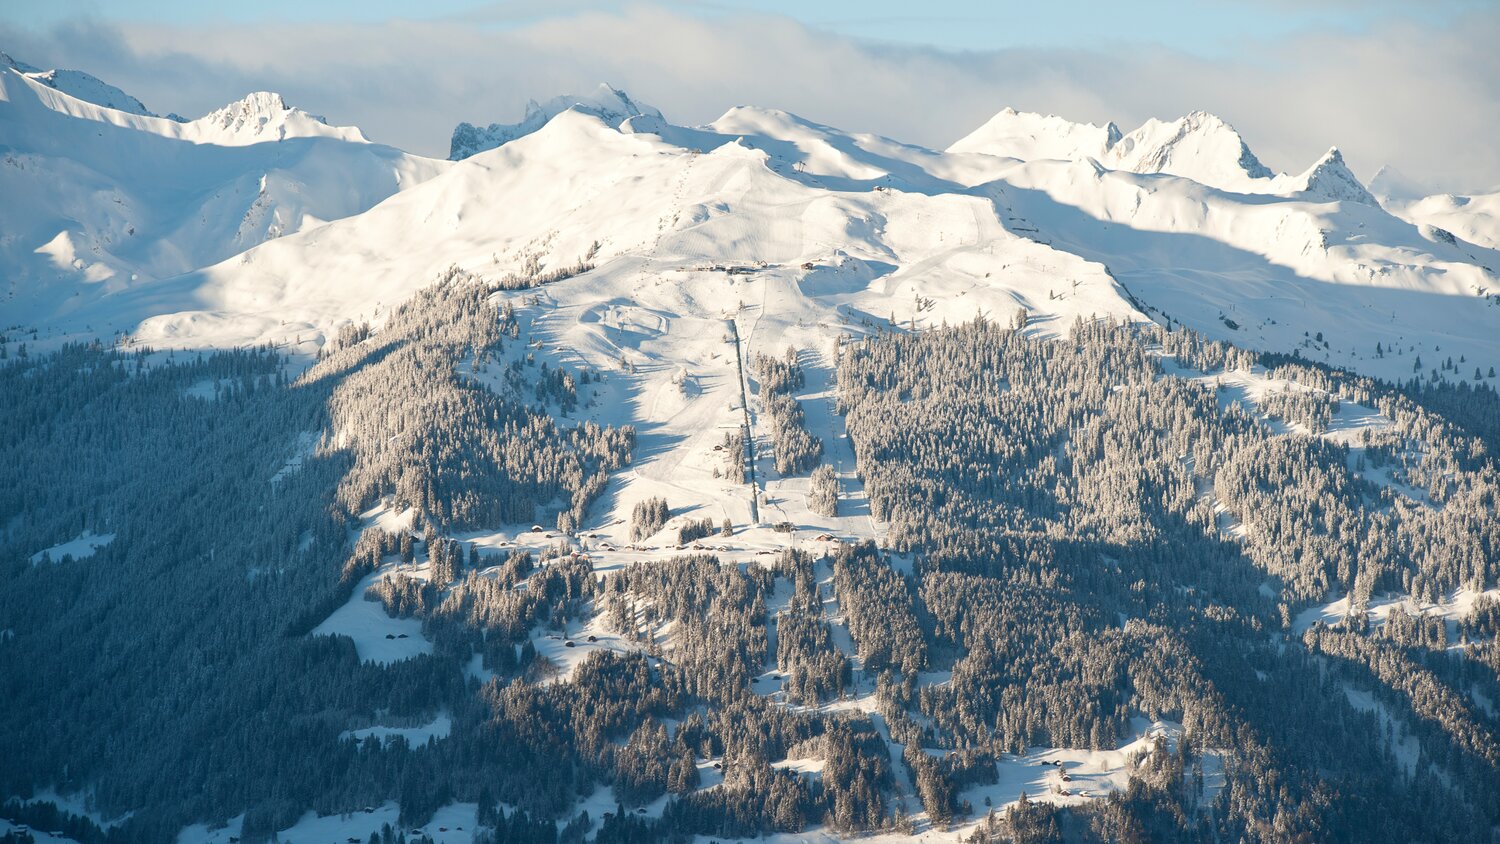
<path fill-rule="evenodd" d="M 174 123 L 3 81 L 4 178 L 34 196 L 3 211 L 26 232 L 4 243 L 9 322 L 69 336 L 310 352 L 448 265 L 591 255 L 548 288 L 560 307 L 702 316 L 740 282 L 694 267 L 744 264 L 771 286 L 735 295 L 780 291 L 784 330 L 915 300 L 933 321 L 1170 318 L 1386 378 L 1410 364 L 1377 342 L 1500 364 L 1492 241 L 1388 213 L 1336 148 L 1274 174 L 1206 112 L 1122 133 L 1005 109 L 936 151 L 752 106 L 676 126 L 603 85 L 460 126 L 442 163 L 274 94 Z"/>

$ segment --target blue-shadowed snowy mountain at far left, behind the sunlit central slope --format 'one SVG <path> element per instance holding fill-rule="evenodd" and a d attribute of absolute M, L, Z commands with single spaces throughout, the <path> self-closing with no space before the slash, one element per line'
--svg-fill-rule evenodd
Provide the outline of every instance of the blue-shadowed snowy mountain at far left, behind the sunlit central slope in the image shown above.
<path fill-rule="evenodd" d="M 177 121 L 80 99 L 15 66 L 0 67 L 0 150 L 8 322 L 45 322 L 357 214 L 448 166 L 278 94 Z"/>

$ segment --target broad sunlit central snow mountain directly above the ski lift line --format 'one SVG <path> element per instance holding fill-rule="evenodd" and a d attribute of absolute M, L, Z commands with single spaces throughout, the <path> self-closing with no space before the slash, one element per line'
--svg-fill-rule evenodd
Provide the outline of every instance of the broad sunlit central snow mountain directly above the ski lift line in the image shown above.
<path fill-rule="evenodd" d="M 88 318 L 146 316 L 134 330 L 158 345 L 312 340 L 378 321 L 452 264 L 500 279 L 532 261 L 573 265 L 596 241 L 597 268 L 546 291 L 574 324 L 562 342 L 602 360 L 620 354 L 597 336 L 608 303 L 663 315 L 682 343 L 736 297 L 765 303 L 771 336 L 801 325 L 808 339 L 850 315 L 904 319 L 915 297 L 938 303 L 924 319 L 1010 315 L 1017 301 L 1064 324 L 1134 313 L 1102 267 L 1006 231 L 982 196 L 828 190 L 778 172 L 790 169 L 744 142 L 698 153 L 566 111 L 364 214 L 100 300 Z M 726 276 L 730 265 L 754 277 Z M 1076 294 L 1038 295 L 1050 273 L 1078 280 Z M 216 304 L 147 315 L 162 297 Z"/>

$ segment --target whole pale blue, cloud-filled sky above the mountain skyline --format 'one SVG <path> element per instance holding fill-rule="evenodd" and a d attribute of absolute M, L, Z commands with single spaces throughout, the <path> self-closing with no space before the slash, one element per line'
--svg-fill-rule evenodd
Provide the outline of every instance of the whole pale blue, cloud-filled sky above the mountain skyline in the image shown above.
<path fill-rule="evenodd" d="M 675 123 L 735 105 L 942 148 L 1005 106 L 1212 111 L 1272 169 L 1500 187 L 1500 0 L 0 0 L 0 49 L 158 112 L 252 90 L 444 156 L 453 126 L 609 82 Z"/>

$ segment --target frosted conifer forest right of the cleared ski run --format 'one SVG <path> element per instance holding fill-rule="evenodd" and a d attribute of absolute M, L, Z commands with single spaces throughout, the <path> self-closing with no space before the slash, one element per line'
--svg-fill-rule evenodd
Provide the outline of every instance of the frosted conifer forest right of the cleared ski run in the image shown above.
<path fill-rule="evenodd" d="M 1314 390 L 1258 405 L 1185 376 L 1251 363 L 1191 333 L 1107 321 L 1054 343 L 974 322 L 846 352 L 872 507 L 894 547 L 918 552 L 906 591 L 928 663 L 951 666 L 946 682 L 886 687 L 892 733 L 1022 753 L 1113 748 L 1134 717 L 1184 724 L 1173 766 L 1070 810 L 1070 835 L 1486 838 L 1500 643 L 1467 622 L 1449 646 L 1442 619 L 1404 610 L 1370 628 L 1365 607 L 1372 592 L 1438 600 L 1496 583 L 1492 453 L 1341 373 L 1288 363 L 1272 375 Z M 1340 402 L 1389 424 L 1354 444 L 1320 436 Z M 1374 483 L 1388 477 L 1376 468 L 1425 501 Z M 1346 592 L 1347 622 L 1293 624 Z M 904 613 L 874 630 L 900 630 Z M 1210 801 L 1186 777 L 1202 765 L 1190 745 L 1224 756 Z M 1030 817 L 1050 811 L 1034 804 L 994 834 L 1059 823 Z"/>

